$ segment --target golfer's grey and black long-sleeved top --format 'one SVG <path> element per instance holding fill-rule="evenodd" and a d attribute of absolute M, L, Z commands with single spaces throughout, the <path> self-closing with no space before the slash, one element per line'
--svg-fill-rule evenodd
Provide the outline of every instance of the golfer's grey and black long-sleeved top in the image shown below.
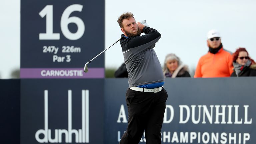
<path fill-rule="evenodd" d="M 164 82 L 162 67 L 153 49 L 161 34 L 149 27 L 144 27 L 143 32 L 143 36 L 129 38 L 121 35 L 120 44 L 130 87 Z"/>

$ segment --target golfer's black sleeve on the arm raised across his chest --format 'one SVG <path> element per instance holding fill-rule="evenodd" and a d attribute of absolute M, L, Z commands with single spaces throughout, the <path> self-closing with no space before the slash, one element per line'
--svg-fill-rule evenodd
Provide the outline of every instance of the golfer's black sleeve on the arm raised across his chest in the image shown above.
<path fill-rule="evenodd" d="M 149 43 L 161 36 L 161 34 L 157 30 L 150 27 L 144 27 L 143 32 L 145 33 L 145 35 L 134 36 L 127 40 L 126 46 L 128 49 Z"/>

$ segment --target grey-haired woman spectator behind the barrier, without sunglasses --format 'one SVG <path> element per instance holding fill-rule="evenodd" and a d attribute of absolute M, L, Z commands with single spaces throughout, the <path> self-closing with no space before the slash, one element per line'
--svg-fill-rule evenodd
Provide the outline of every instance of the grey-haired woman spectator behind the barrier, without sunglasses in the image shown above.
<path fill-rule="evenodd" d="M 183 65 L 180 58 L 171 53 L 166 55 L 164 61 L 164 76 L 165 77 L 190 77 L 188 66 Z"/>

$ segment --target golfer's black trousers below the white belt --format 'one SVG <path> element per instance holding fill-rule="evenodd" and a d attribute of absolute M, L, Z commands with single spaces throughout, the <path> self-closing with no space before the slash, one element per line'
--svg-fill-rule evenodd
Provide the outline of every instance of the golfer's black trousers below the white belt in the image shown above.
<path fill-rule="evenodd" d="M 145 130 L 146 144 L 161 144 L 161 128 L 167 92 L 126 91 L 128 127 L 119 144 L 138 144 Z"/>

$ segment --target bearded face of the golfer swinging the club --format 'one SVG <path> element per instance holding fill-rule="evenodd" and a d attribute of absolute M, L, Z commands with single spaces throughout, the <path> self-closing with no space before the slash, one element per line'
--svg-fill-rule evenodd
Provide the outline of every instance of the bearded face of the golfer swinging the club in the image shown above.
<path fill-rule="evenodd" d="M 134 18 L 128 18 L 123 20 L 123 32 L 126 33 L 126 35 L 132 34 L 132 35 L 137 35 L 138 34 L 138 24 L 136 23 Z M 128 35 L 129 35 L 128 34 Z"/>

